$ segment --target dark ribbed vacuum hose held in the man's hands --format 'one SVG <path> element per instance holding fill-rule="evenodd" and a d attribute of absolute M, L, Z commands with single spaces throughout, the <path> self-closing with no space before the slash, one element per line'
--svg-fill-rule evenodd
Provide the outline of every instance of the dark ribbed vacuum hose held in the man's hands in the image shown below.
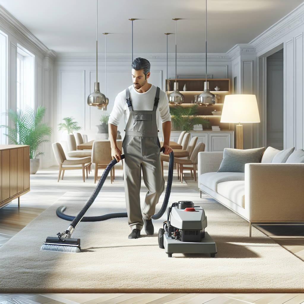
<path fill-rule="evenodd" d="M 164 147 L 162 147 L 161 151 L 164 152 L 164 150 L 165 150 Z M 125 155 L 122 154 L 121 159 L 124 159 L 124 158 L 125 158 Z M 97 195 L 99 194 L 99 192 L 100 192 L 100 190 L 101 190 L 101 188 L 102 188 L 102 186 L 105 182 L 105 179 L 107 178 L 107 176 L 109 175 L 109 172 L 111 171 L 112 167 L 115 164 L 117 164 L 117 161 L 114 158 L 107 165 L 107 167 L 105 168 L 105 171 L 103 171 L 103 174 L 102 174 L 102 176 L 101 176 L 93 194 L 91 195 L 88 202 L 86 202 L 85 206 L 81 209 L 81 211 L 78 213 L 77 216 L 70 216 L 70 215 L 64 214 L 63 212 L 66 209 L 65 206 L 60 206 L 60 207 L 57 208 L 57 210 L 56 210 L 57 216 L 60 217 L 61 219 L 66 219 L 66 220 L 72 221 L 70 226 L 73 226 L 74 229 L 80 221 L 81 222 L 99 222 L 99 221 L 104 221 L 106 219 L 128 217 L 127 212 L 109 213 L 109 214 L 105 214 L 105 215 L 102 215 L 102 216 L 84 216 L 85 213 L 88 211 L 88 209 L 93 204 L 93 202 L 95 201 Z M 172 151 L 169 155 L 168 182 L 167 182 L 167 188 L 166 188 L 166 194 L 165 194 L 165 197 L 164 197 L 164 202 L 163 202 L 163 205 L 161 206 L 160 211 L 157 214 L 155 214 L 154 216 L 152 216 L 152 219 L 159 219 L 167 209 L 169 198 L 170 198 L 170 193 L 171 193 L 171 186 L 172 186 L 173 165 L 174 165 L 174 153 Z"/>

